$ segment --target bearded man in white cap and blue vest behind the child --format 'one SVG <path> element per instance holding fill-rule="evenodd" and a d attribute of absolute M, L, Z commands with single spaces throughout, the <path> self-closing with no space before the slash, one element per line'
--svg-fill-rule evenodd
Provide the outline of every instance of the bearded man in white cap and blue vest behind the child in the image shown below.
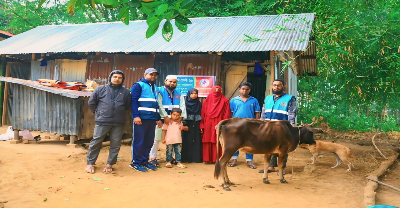
<path fill-rule="evenodd" d="M 185 105 L 185 99 L 181 91 L 179 91 L 176 88 L 176 83 L 178 82 L 178 77 L 176 75 L 168 75 L 165 80 L 164 80 L 164 86 L 158 87 L 158 90 L 160 91 L 160 95 L 162 97 L 162 105 L 164 107 L 164 110 L 166 111 L 168 117 L 162 118 L 163 123 L 167 123 L 167 125 L 172 122 L 172 119 L 169 119 L 170 117 L 170 112 L 172 108 L 180 108 L 182 110 L 182 113 L 179 117 L 178 120 L 176 120 L 176 123 L 180 123 L 183 119 L 186 119 L 186 105 Z M 162 129 L 156 127 L 156 133 L 154 136 L 154 143 L 153 147 L 150 150 L 150 164 L 152 164 L 155 167 L 160 166 L 157 162 L 157 150 L 158 150 L 158 144 L 162 140 Z M 172 164 L 175 164 L 176 161 L 175 159 L 171 160 Z"/>

